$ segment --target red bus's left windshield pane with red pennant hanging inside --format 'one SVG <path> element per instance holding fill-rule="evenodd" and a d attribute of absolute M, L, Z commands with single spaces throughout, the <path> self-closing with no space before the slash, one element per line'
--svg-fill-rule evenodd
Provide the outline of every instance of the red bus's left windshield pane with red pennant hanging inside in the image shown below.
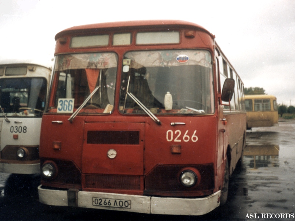
<path fill-rule="evenodd" d="M 110 113 L 114 106 L 117 60 L 117 55 L 110 52 L 58 55 L 50 109 L 57 108 L 63 98 L 73 99 L 77 109 L 99 87 L 80 113 Z"/>

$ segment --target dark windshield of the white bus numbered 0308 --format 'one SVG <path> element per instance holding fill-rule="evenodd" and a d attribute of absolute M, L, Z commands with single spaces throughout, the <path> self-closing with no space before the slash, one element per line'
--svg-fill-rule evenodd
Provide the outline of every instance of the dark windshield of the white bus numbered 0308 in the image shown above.
<path fill-rule="evenodd" d="M 1 78 L 0 105 L 6 116 L 41 117 L 45 107 L 45 78 Z"/>

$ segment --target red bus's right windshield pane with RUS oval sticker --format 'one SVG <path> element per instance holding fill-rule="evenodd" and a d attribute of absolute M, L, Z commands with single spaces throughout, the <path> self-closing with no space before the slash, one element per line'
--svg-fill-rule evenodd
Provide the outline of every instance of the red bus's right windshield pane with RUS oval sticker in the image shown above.
<path fill-rule="evenodd" d="M 155 114 L 214 113 L 211 55 L 205 50 L 127 52 L 119 108 L 122 113 L 143 113 L 126 95 L 127 87 L 129 93 Z M 167 97 L 172 97 L 172 108 L 167 101 L 165 105 L 167 93 L 170 94 Z"/>

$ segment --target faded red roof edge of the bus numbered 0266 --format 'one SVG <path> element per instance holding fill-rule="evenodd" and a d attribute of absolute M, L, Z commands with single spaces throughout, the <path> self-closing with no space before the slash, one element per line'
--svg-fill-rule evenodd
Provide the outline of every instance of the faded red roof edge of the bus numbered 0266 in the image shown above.
<path fill-rule="evenodd" d="M 97 24 L 86 24 L 86 25 L 80 25 L 80 26 L 74 26 L 68 29 L 64 29 L 63 31 L 59 32 L 55 35 L 55 40 L 57 40 L 61 35 L 64 34 L 75 34 L 77 32 L 87 32 L 91 31 L 93 29 L 122 29 L 126 30 L 128 28 L 135 29 L 135 28 L 142 28 L 144 26 L 153 26 L 154 28 L 157 27 L 181 27 L 181 28 L 193 28 L 198 29 L 204 32 L 207 32 L 212 38 L 215 38 L 213 34 L 211 34 L 209 31 L 207 31 L 202 26 L 192 23 L 192 22 L 186 22 L 181 20 L 143 20 L 143 21 L 124 21 L 124 22 L 106 22 L 106 23 L 97 23 Z"/>

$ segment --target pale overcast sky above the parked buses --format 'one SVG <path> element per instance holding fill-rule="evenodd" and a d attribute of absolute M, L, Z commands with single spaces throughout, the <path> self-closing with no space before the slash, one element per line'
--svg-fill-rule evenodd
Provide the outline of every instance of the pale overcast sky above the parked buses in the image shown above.
<path fill-rule="evenodd" d="M 294 0 L 0 0 L 0 59 L 50 60 L 55 34 L 76 25 L 184 20 L 216 36 L 246 88 L 295 105 L 294 15 Z"/>

